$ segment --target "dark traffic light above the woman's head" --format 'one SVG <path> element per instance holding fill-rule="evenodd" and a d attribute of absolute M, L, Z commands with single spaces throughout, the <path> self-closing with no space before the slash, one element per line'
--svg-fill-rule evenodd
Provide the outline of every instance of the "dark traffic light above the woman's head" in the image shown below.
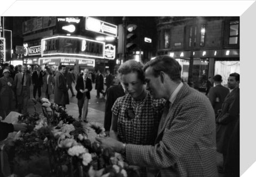
<path fill-rule="evenodd" d="M 130 53 L 137 44 L 134 43 L 134 39 L 137 37 L 137 35 L 134 33 L 134 30 L 137 28 L 137 25 L 129 24 L 127 25 L 127 34 L 126 34 L 126 52 Z"/>

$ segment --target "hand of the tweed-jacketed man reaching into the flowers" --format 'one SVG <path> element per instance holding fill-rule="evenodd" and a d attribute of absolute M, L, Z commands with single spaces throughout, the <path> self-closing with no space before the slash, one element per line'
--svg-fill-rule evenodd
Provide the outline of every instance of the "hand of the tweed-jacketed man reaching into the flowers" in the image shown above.
<path fill-rule="evenodd" d="M 122 152 L 123 143 L 109 137 L 96 137 L 96 141 L 105 148 L 110 148 L 118 153 Z"/>

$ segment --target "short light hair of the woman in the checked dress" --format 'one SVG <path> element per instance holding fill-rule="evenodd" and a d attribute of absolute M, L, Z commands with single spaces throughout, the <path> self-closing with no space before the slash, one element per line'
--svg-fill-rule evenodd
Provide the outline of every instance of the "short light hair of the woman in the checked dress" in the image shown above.
<path fill-rule="evenodd" d="M 138 78 L 144 82 L 145 74 L 143 71 L 143 64 L 141 62 L 135 60 L 125 61 L 119 68 L 118 73 L 121 75 L 129 74 L 129 73 L 137 73 Z"/>

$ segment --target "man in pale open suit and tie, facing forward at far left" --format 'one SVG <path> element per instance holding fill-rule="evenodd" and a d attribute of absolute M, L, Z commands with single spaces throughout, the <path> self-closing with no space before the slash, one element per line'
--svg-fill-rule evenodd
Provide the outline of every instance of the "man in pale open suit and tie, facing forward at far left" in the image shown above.
<path fill-rule="evenodd" d="M 21 73 L 18 73 L 14 77 L 14 85 L 16 88 L 18 112 L 26 114 L 28 112 L 28 99 L 30 98 L 30 85 L 32 78 L 27 72 L 27 66 L 21 67 Z"/>

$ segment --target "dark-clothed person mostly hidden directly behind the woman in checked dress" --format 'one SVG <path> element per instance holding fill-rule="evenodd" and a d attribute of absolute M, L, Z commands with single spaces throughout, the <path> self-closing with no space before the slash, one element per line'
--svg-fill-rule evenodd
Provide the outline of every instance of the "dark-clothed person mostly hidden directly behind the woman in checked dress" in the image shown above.
<path fill-rule="evenodd" d="M 106 134 L 109 134 L 111 120 L 112 120 L 112 111 L 111 108 L 117 98 L 125 95 L 124 87 L 119 84 L 112 86 L 108 89 L 107 100 L 105 104 L 105 118 L 104 118 L 104 128 Z"/>

